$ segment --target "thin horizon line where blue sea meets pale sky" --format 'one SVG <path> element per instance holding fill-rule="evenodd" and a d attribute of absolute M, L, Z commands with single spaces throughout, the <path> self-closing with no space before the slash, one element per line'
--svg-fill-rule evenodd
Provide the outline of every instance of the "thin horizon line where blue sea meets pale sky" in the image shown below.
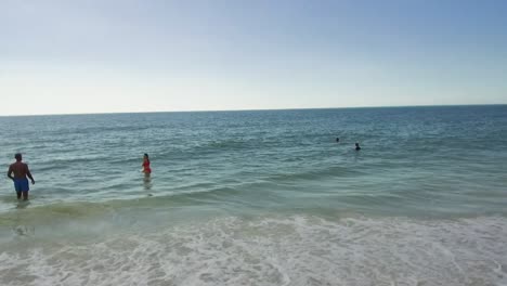
<path fill-rule="evenodd" d="M 378 106 L 349 106 L 349 107 L 287 107 L 287 108 L 238 108 L 238 109 L 187 109 L 187 110 L 157 110 L 157 112 L 110 112 L 110 113 L 55 113 L 55 114 L 21 114 L 0 115 L 2 117 L 37 117 L 37 116 L 79 116 L 79 115 L 122 115 L 122 114 L 164 114 L 164 113 L 234 113 L 234 112 L 282 112 L 282 110 L 324 110 L 324 109 L 360 109 L 360 108 L 410 108 L 410 107 L 466 107 L 466 106 L 502 106 L 507 103 L 486 104 L 421 104 L 421 105 L 378 105 Z"/>

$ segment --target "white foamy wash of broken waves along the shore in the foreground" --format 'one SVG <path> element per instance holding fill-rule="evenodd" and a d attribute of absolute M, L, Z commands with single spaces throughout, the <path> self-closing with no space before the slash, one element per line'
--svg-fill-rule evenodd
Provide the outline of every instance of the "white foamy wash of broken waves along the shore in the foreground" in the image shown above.
<path fill-rule="evenodd" d="M 507 285 L 499 217 L 222 218 L 30 245 L 0 251 L 0 285 Z"/>

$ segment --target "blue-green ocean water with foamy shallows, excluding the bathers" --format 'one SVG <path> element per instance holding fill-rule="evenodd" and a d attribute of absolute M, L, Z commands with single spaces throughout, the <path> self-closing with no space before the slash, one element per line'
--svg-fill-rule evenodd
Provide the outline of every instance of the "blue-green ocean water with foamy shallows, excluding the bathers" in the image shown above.
<path fill-rule="evenodd" d="M 0 117 L 0 134 L 4 172 L 21 152 L 36 180 L 29 203 L 0 180 L 0 285 L 507 285 L 505 105 Z"/>

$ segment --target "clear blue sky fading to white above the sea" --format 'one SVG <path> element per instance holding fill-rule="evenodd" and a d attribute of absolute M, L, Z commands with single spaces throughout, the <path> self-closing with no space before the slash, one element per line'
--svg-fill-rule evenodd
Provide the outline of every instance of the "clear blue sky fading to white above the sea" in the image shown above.
<path fill-rule="evenodd" d="M 0 0 L 0 116 L 507 103 L 503 0 Z"/>

